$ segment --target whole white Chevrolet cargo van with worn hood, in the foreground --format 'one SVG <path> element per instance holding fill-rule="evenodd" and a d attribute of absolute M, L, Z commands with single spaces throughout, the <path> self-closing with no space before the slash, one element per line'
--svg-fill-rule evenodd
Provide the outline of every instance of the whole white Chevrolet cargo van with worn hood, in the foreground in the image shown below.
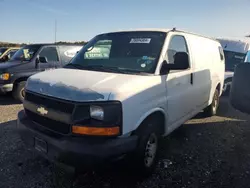
<path fill-rule="evenodd" d="M 133 156 L 147 174 L 159 137 L 202 110 L 216 114 L 224 70 L 220 43 L 200 35 L 100 34 L 64 68 L 28 79 L 18 129 L 52 161 L 81 168 Z"/>

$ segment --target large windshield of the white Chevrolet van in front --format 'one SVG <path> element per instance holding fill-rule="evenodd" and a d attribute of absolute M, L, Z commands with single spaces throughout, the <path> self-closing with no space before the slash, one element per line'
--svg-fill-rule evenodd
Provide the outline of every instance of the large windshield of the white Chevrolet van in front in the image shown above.
<path fill-rule="evenodd" d="M 165 37 L 162 32 L 99 35 L 69 65 L 97 71 L 154 73 Z"/>

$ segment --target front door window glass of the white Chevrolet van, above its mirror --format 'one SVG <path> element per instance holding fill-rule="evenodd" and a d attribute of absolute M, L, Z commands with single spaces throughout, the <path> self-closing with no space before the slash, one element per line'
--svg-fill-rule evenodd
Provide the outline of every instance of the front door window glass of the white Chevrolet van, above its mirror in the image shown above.
<path fill-rule="evenodd" d="M 183 36 L 181 35 L 175 35 L 171 38 L 166 57 L 168 63 L 173 64 L 174 63 L 174 56 L 177 52 L 186 52 L 188 53 L 187 49 L 187 43 Z"/>

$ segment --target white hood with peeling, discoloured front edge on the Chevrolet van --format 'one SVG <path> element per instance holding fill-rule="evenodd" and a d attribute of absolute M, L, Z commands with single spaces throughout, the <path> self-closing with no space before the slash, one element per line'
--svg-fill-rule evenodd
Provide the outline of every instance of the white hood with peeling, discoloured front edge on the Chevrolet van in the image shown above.
<path fill-rule="evenodd" d="M 111 93 L 136 90 L 133 85 L 147 77 L 61 68 L 31 76 L 26 90 L 77 102 L 106 101 Z"/>

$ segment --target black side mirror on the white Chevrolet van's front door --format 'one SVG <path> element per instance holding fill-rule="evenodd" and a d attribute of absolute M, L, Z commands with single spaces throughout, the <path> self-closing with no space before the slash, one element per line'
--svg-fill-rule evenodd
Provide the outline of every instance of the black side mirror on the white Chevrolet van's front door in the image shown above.
<path fill-rule="evenodd" d="M 160 74 L 167 74 L 170 70 L 186 70 L 189 68 L 189 56 L 186 52 L 177 52 L 174 55 L 174 63 L 169 64 L 166 60 L 162 63 Z"/>

